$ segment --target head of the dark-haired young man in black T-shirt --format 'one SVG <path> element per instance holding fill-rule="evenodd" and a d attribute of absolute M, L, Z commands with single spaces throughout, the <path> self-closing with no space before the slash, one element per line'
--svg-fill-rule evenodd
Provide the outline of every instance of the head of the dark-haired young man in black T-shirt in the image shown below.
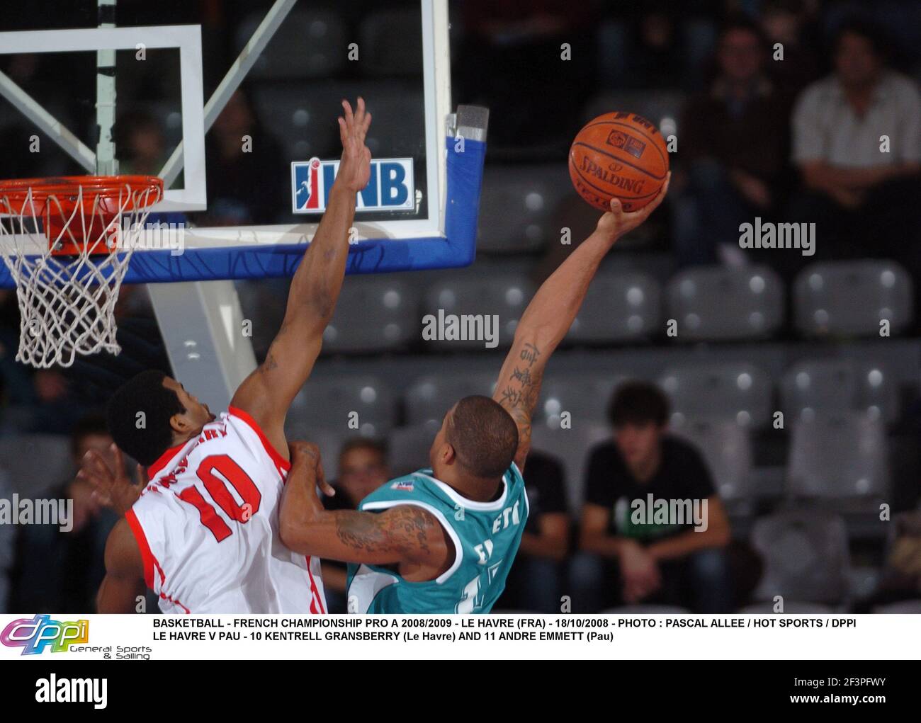
<path fill-rule="evenodd" d="M 655 384 L 627 381 L 614 391 L 608 419 L 624 461 L 642 466 L 655 459 L 669 418 L 669 401 Z"/>

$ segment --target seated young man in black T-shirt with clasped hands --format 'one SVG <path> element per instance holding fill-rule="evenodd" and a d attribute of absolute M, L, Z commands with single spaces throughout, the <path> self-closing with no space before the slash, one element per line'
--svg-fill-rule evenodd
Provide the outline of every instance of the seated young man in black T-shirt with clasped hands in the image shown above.
<path fill-rule="evenodd" d="M 614 393 L 610 419 L 614 440 L 589 457 L 584 554 L 571 570 L 574 612 L 640 602 L 729 612 L 729 519 L 700 453 L 666 433 L 665 395 L 647 382 L 627 382 Z M 696 524 L 671 514 L 650 522 L 639 507 L 650 496 L 690 500 L 705 514 Z"/>

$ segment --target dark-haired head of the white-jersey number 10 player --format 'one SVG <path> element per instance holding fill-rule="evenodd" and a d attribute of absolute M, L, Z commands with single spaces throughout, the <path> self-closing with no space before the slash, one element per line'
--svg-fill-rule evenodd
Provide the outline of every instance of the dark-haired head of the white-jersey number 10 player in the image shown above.
<path fill-rule="evenodd" d="M 215 418 L 176 379 L 154 369 L 122 384 L 112 394 L 106 416 L 115 444 L 144 465 Z"/>

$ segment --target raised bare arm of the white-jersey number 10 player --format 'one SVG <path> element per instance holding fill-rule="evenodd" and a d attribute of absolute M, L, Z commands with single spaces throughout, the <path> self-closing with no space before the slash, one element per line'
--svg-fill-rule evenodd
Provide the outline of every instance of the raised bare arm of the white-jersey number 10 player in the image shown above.
<path fill-rule="evenodd" d="M 332 319 L 345 274 L 349 228 L 356 193 L 367 186 L 371 152 L 365 135 L 371 114 L 358 99 L 356 112 L 343 100 L 339 119 L 343 156 L 326 212 L 291 280 L 285 319 L 262 366 L 239 386 L 231 405 L 252 416 L 275 449 L 286 456 L 285 417 L 320 355 L 323 331 Z"/>

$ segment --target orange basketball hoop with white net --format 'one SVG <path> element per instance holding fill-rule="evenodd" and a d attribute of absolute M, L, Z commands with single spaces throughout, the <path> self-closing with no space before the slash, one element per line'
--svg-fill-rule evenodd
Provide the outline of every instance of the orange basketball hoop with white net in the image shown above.
<path fill-rule="evenodd" d="M 32 367 L 69 367 L 77 354 L 121 351 L 115 304 L 156 176 L 0 181 L 0 256 L 16 282 L 19 349 Z"/>

